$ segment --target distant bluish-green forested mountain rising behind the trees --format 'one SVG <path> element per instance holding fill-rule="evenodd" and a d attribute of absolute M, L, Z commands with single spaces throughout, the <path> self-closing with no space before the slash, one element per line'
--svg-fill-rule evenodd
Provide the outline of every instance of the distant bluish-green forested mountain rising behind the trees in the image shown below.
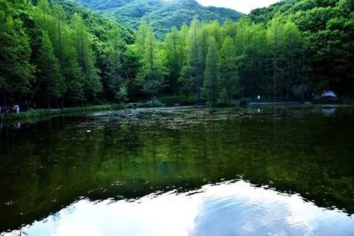
<path fill-rule="evenodd" d="M 156 37 L 162 39 L 173 26 L 180 28 L 197 17 L 202 22 L 227 18 L 238 20 L 242 13 L 228 8 L 205 7 L 195 0 L 73 0 L 137 29 L 141 20 L 152 24 Z"/>

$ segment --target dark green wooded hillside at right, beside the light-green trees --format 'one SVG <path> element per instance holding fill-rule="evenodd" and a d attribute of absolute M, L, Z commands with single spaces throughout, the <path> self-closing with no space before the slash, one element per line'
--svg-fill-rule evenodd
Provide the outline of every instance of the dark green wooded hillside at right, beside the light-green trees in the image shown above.
<path fill-rule="evenodd" d="M 354 90 L 354 1 L 287 0 L 251 11 L 254 23 L 291 20 L 309 42 L 312 84 L 341 93 Z"/>

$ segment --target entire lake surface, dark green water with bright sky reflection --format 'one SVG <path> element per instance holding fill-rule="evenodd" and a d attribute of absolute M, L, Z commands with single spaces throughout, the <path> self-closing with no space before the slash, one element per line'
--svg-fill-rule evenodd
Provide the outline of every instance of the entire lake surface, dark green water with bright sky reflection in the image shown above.
<path fill-rule="evenodd" d="M 0 235 L 354 235 L 353 107 L 102 112 L 0 132 Z"/>

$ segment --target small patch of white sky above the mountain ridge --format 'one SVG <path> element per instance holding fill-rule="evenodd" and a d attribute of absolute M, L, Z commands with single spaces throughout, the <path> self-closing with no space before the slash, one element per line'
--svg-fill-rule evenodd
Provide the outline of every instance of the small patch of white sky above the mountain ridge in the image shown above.
<path fill-rule="evenodd" d="M 232 8 L 242 13 L 249 13 L 254 8 L 269 6 L 279 0 L 197 0 L 203 6 L 221 6 Z"/>

